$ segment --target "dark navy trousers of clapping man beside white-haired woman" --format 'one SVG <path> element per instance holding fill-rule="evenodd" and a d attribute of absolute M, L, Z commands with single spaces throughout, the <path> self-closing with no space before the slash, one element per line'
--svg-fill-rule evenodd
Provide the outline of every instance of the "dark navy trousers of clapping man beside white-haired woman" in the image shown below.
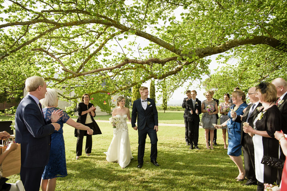
<path fill-rule="evenodd" d="M 21 166 L 20 179 L 23 182 L 25 190 L 39 191 L 44 168 L 45 166 L 37 168 L 26 168 Z"/>

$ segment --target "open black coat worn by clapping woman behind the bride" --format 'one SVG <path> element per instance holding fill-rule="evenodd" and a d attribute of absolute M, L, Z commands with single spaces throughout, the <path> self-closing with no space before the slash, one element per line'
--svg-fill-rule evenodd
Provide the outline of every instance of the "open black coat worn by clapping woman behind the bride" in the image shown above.
<path fill-rule="evenodd" d="M 90 109 L 93 105 L 94 105 L 94 104 L 89 103 L 89 104 L 88 104 L 88 108 Z M 84 104 L 83 102 L 80 102 L 80 103 L 78 104 L 78 107 L 77 107 L 77 112 L 78 112 L 77 123 L 81 123 L 81 124 L 85 125 L 88 113 L 82 115 L 82 112 L 83 112 L 83 111 L 87 111 L 88 108 L 87 108 L 87 105 Z M 90 114 L 89 114 L 89 115 L 90 115 Z M 90 116 L 91 116 L 91 115 L 90 115 Z M 94 117 L 95 117 L 95 116 L 94 116 Z M 92 121 L 93 121 L 93 124 L 94 124 L 94 129 L 93 129 L 94 132 L 93 132 L 93 135 L 102 134 L 102 132 L 101 132 L 101 130 L 100 130 L 98 124 L 95 122 L 94 117 L 91 116 Z M 87 135 L 87 131 L 80 130 L 80 129 L 75 129 L 74 136 L 75 136 L 75 137 L 78 137 L 80 134 L 81 134 L 81 136 L 86 136 L 86 135 Z"/>

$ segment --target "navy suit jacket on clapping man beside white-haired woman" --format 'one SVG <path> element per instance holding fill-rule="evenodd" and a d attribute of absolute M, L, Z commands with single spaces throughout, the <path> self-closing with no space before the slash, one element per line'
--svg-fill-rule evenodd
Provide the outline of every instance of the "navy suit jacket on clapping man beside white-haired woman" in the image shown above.
<path fill-rule="evenodd" d="M 50 141 L 55 130 L 51 120 L 44 119 L 39 105 L 26 95 L 15 114 L 15 141 L 21 144 L 21 165 L 26 168 L 43 167 L 49 161 Z"/>

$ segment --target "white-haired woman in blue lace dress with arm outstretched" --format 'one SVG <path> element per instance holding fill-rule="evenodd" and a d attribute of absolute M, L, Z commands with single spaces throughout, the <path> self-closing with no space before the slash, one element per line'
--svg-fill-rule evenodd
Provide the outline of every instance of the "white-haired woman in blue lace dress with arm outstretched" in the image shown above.
<path fill-rule="evenodd" d="M 46 106 L 43 109 L 45 119 L 51 119 L 52 112 L 57 110 L 56 107 L 58 106 L 57 91 L 47 88 L 45 98 L 40 101 Z M 88 126 L 84 126 L 81 123 L 77 123 L 65 112 L 63 112 L 62 117 L 60 117 L 57 123 L 60 124 L 61 128 L 59 131 L 54 131 L 54 133 L 52 133 L 50 158 L 42 174 L 41 188 L 43 191 L 55 190 L 57 177 L 67 176 L 65 143 L 63 137 L 64 123 L 76 129 L 86 130 L 88 131 L 88 134 L 93 134 L 92 129 L 90 129 Z"/>

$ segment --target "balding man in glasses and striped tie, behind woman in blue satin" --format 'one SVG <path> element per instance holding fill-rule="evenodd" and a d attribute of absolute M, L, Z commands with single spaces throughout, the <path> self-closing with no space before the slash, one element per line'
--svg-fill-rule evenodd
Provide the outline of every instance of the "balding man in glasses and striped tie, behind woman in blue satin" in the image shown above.
<path fill-rule="evenodd" d="M 244 133 L 243 131 L 244 122 L 248 122 L 249 125 L 253 128 L 253 119 L 259 113 L 259 111 L 256 108 L 262 106 L 262 104 L 259 103 L 259 99 L 255 97 L 255 91 L 256 91 L 255 87 L 252 87 L 248 90 L 247 96 L 249 96 L 250 102 L 252 104 L 246 107 L 246 111 L 243 114 L 242 119 L 238 115 L 235 118 L 235 122 L 241 123 L 240 143 L 242 145 L 244 166 L 247 178 L 247 182 L 243 185 L 257 185 L 257 179 L 255 176 L 254 145 L 252 137 L 248 135 L 248 133 Z"/>

